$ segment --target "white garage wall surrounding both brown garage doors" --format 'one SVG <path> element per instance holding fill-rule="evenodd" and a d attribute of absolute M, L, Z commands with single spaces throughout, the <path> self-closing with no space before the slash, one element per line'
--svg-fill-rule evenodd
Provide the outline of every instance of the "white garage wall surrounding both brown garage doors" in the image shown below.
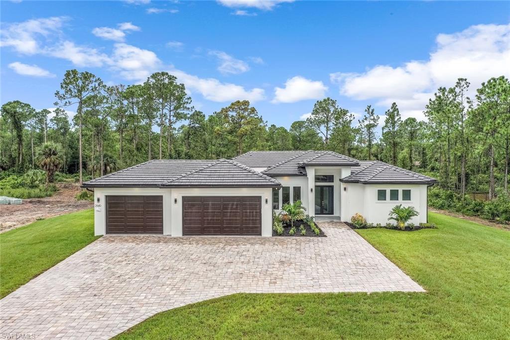
<path fill-rule="evenodd" d="M 262 236 L 272 235 L 271 188 L 95 188 L 94 234 L 106 234 L 107 195 L 162 195 L 163 234 L 183 235 L 183 196 L 260 196 L 262 202 Z M 99 198 L 99 202 L 97 202 Z M 267 198 L 267 203 L 266 203 Z M 177 203 L 174 203 L 177 199 Z"/>

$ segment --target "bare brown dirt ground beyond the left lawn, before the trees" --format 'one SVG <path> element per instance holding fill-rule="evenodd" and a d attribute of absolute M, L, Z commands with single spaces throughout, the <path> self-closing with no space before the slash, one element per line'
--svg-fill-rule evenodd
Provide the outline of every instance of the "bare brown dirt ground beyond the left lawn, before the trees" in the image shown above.
<path fill-rule="evenodd" d="M 78 184 L 59 183 L 57 186 L 59 191 L 52 197 L 26 199 L 22 204 L 17 205 L 1 205 L 0 233 L 22 227 L 42 218 L 92 208 L 92 202 L 77 201 L 74 198 L 81 190 Z"/>

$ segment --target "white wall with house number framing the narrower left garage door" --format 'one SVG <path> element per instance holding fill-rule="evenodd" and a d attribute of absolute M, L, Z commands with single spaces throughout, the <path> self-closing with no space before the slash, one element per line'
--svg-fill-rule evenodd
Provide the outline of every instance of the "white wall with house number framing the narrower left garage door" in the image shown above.
<path fill-rule="evenodd" d="M 170 189 L 159 188 L 94 188 L 94 235 L 106 234 L 107 195 L 155 195 L 163 196 L 163 234 L 170 235 Z M 99 202 L 97 202 L 99 198 Z"/>

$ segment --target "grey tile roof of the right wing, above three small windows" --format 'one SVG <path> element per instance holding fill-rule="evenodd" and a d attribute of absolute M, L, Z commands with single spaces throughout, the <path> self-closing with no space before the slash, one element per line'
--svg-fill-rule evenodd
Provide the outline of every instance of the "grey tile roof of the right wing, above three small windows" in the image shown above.
<path fill-rule="evenodd" d="M 380 161 L 361 161 L 360 166 L 351 168 L 351 174 L 340 181 L 362 184 L 432 184 L 437 182 L 434 178 Z"/>

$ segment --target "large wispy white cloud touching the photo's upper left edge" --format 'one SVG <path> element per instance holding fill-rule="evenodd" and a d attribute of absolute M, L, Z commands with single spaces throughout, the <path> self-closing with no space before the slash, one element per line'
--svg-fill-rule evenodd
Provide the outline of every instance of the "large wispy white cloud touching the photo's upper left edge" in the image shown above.
<path fill-rule="evenodd" d="M 16 52 L 27 55 L 40 53 L 38 39 L 48 39 L 50 35 L 59 33 L 66 20 L 67 17 L 54 16 L 3 25 L 0 46 L 10 46 Z"/>

